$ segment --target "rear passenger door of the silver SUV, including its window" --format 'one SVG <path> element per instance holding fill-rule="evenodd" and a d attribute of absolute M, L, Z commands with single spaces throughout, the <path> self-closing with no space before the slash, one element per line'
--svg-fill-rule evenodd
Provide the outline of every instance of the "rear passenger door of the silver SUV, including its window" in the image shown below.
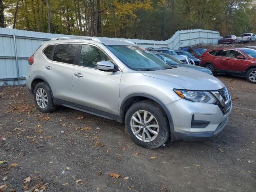
<path fill-rule="evenodd" d="M 72 78 L 78 44 L 57 44 L 51 53 L 46 49 L 44 54 L 49 58 L 44 63 L 42 76 L 50 85 L 55 99 L 73 102 Z"/>

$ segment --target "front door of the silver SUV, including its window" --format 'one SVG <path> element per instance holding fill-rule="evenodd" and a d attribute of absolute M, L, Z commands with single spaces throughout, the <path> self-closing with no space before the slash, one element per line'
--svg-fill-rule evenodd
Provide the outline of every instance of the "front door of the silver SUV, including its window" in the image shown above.
<path fill-rule="evenodd" d="M 118 114 L 122 71 L 105 72 L 97 69 L 99 61 L 110 61 L 100 48 L 82 44 L 73 72 L 74 105 L 96 113 Z"/>

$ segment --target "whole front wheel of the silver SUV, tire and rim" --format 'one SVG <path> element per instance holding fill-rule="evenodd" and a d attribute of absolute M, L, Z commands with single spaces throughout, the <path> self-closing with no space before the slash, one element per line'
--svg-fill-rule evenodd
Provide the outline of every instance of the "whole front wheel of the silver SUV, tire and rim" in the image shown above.
<path fill-rule="evenodd" d="M 170 137 L 166 115 L 151 101 L 133 104 L 126 113 L 125 127 L 136 144 L 150 149 L 158 148 Z"/>

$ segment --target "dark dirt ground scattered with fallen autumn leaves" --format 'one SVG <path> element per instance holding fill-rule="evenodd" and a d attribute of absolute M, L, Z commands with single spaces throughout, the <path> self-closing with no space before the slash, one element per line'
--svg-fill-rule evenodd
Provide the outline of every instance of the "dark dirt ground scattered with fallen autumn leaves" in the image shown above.
<path fill-rule="evenodd" d="M 0 191 L 255 192 L 256 84 L 217 78 L 233 101 L 224 130 L 154 150 L 124 124 L 61 106 L 42 114 L 25 86 L 0 88 Z"/>

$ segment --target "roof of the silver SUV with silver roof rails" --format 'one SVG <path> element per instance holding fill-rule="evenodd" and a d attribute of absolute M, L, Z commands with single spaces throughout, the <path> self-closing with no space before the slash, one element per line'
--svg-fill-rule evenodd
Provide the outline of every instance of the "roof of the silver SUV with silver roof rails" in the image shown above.
<path fill-rule="evenodd" d="M 102 38 L 102 37 L 89 37 L 89 36 L 81 36 L 81 37 L 59 37 L 59 38 L 52 38 L 50 41 L 61 41 L 61 42 L 98 42 L 104 45 L 132 45 L 136 46 L 131 41 L 128 40 L 114 40 L 111 38 Z"/>

